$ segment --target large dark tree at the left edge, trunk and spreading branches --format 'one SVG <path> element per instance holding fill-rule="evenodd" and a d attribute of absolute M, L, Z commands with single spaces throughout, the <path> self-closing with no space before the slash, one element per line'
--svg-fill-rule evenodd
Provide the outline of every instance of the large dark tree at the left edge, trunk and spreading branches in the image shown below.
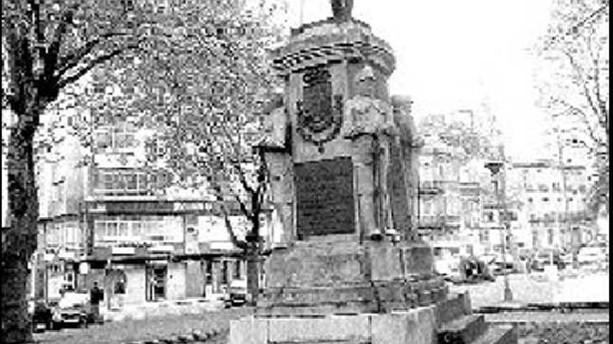
<path fill-rule="evenodd" d="M 101 13 L 100 10 L 104 10 Z M 2 229 L 3 343 L 31 341 L 29 270 L 36 249 L 38 202 L 33 138 L 45 108 L 95 67 L 138 47 L 134 8 L 99 1 L 2 3 L 3 108 L 10 109 L 6 158 L 8 222 Z M 5 87 L 6 85 L 6 87 Z M 3 114 L 4 117 L 4 114 Z"/>

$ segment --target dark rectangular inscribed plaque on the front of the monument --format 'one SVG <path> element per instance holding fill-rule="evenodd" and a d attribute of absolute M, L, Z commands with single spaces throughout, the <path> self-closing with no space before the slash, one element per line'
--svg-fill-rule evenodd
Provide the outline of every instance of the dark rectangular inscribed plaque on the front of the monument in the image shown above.
<path fill-rule="evenodd" d="M 294 165 L 297 234 L 355 233 L 351 158 Z"/>

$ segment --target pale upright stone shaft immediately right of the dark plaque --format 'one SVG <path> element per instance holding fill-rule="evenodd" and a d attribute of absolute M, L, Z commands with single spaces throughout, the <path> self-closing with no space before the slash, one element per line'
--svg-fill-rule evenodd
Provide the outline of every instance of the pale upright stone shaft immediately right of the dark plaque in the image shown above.
<path fill-rule="evenodd" d="M 353 163 L 357 179 L 357 211 L 359 229 L 366 238 L 380 234 L 376 221 L 373 136 L 353 138 Z"/>

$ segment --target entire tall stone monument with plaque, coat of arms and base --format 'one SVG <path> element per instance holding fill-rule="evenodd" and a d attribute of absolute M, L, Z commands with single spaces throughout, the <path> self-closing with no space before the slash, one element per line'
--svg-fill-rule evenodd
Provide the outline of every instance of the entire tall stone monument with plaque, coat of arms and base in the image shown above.
<path fill-rule="evenodd" d="M 414 129 L 410 104 L 388 94 L 394 54 L 352 1 L 331 2 L 334 17 L 274 51 L 285 94 L 263 149 L 284 245 L 230 343 L 515 343 L 512 329 L 487 331 L 468 295 L 449 295 L 413 240 Z"/>

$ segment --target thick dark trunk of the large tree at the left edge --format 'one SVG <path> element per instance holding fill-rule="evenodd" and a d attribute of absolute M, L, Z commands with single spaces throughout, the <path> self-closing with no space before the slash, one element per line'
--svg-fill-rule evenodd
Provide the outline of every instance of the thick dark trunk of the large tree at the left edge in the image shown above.
<path fill-rule="evenodd" d="M 27 116 L 10 129 L 8 151 L 8 227 L 2 229 L 1 343 L 32 341 L 28 313 L 28 262 L 36 250 L 38 198 L 33 161 L 36 126 Z"/>

